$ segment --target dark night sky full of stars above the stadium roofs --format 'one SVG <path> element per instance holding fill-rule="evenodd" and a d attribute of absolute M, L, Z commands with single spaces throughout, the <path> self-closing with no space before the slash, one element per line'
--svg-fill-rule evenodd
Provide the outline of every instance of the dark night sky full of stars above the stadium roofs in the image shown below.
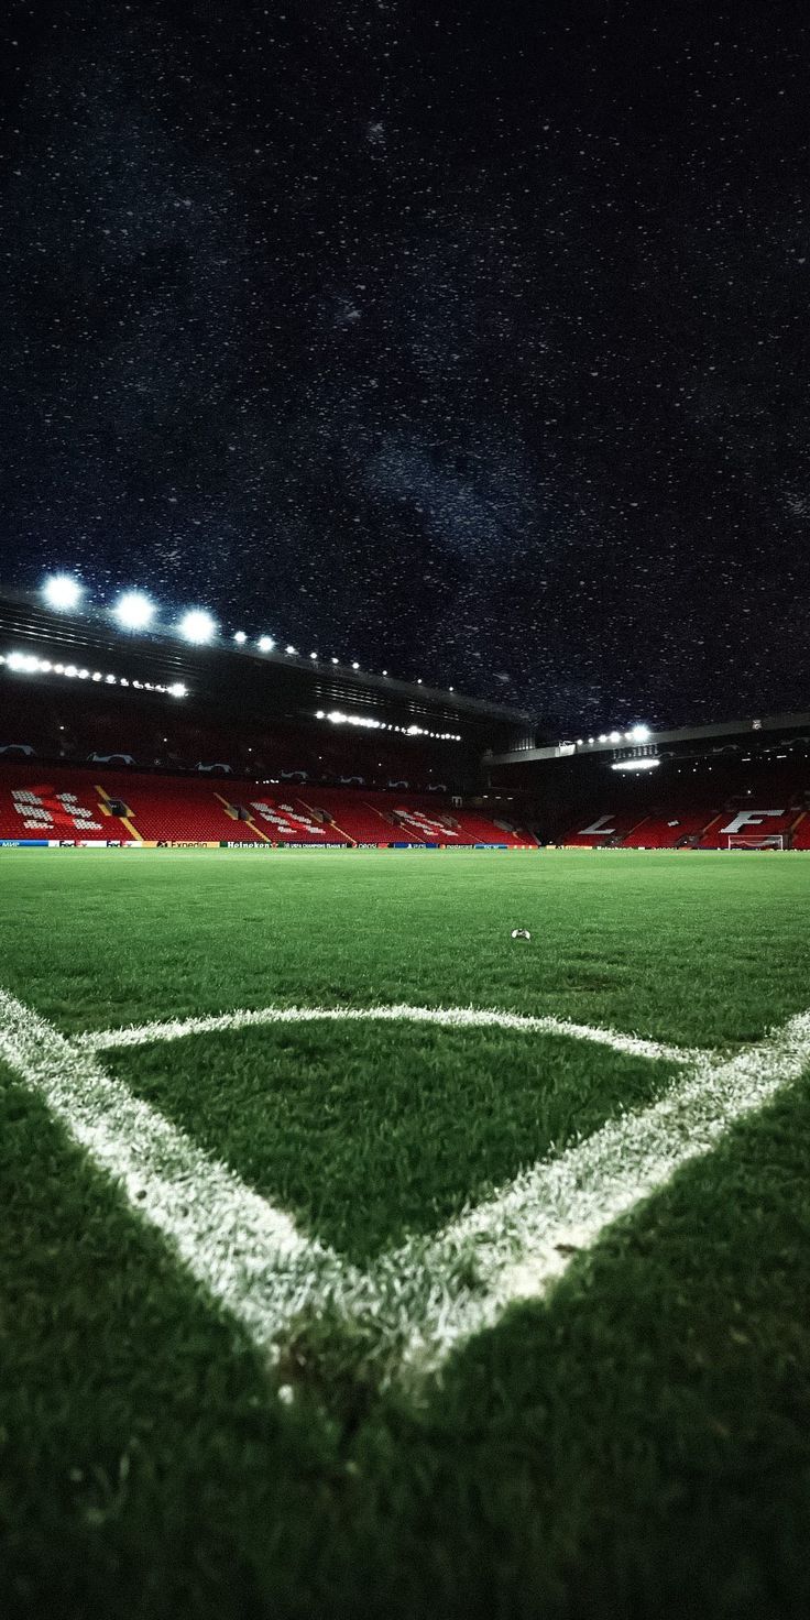
<path fill-rule="evenodd" d="M 564 727 L 808 708 L 794 0 L 11 0 L 0 582 Z"/>

